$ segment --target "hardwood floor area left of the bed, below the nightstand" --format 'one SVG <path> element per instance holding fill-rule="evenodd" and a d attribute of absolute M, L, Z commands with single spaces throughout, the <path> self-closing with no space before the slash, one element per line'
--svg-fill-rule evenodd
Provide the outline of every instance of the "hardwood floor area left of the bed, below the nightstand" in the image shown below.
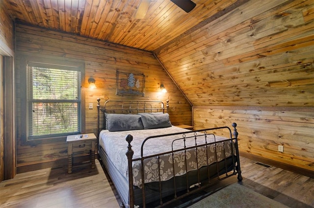
<path fill-rule="evenodd" d="M 118 208 L 120 199 L 101 164 L 17 174 L 0 183 L 2 208 Z"/>

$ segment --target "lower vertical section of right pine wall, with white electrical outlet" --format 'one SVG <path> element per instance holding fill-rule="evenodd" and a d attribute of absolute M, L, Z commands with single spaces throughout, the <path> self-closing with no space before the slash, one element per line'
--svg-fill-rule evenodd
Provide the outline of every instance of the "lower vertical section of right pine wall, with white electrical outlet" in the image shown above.
<path fill-rule="evenodd" d="M 239 150 L 300 168 L 314 169 L 314 108 L 199 106 L 193 108 L 196 129 L 237 124 Z M 284 152 L 278 152 L 278 145 Z"/>

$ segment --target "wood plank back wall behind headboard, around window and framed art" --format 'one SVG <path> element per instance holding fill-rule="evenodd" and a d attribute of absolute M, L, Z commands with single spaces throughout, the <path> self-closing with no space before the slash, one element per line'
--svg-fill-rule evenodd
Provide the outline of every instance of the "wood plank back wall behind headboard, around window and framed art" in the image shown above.
<path fill-rule="evenodd" d="M 85 129 L 97 133 L 97 98 L 104 104 L 107 99 L 169 99 L 169 114 L 173 124 L 191 124 L 192 108 L 176 87 L 167 72 L 161 67 L 153 53 L 130 47 L 109 44 L 66 33 L 60 33 L 24 24 L 16 25 L 16 81 L 17 81 L 17 166 L 18 172 L 47 166 L 65 165 L 67 146 L 62 142 L 21 145 L 21 112 L 24 103 L 19 99 L 25 88 L 25 77 L 20 76 L 21 60 L 25 56 L 39 56 L 59 60 L 85 63 Z M 145 75 L 145 96 L 116 95 L 116 70 L 143 73 Z M 93 77 L 97 89 L 88 88 L 88 78 Z M 167 93 L 161 93 L 164 84 Z M 93 109 L 89 110 L 89 103 Z M 184 121 L 182 123 L 182 121 Z"/>

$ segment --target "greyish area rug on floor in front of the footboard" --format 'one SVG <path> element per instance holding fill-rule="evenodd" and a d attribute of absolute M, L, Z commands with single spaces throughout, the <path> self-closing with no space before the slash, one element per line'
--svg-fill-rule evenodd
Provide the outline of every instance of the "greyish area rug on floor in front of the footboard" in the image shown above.
<path fill-rule="evenodd" d="M 229 185 L 188 208 L 288 208 L 243 185 Z"/>

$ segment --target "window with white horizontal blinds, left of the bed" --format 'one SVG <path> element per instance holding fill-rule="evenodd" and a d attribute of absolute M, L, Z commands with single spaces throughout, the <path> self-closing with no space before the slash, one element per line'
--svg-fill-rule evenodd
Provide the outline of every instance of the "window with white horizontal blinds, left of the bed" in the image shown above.
<path fill-rule="evenodd" d="M 81 132 L 81 68 L 27 63 L 27 140 Z"/>

